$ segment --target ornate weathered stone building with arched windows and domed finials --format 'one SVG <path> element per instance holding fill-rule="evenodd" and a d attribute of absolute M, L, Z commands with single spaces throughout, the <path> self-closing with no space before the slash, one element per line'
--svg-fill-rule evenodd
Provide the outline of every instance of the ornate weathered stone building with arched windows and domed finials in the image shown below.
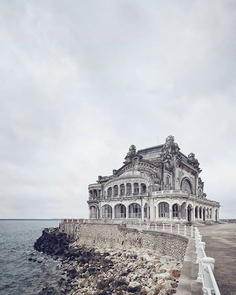
<path fill-rule="evenodd" d="M 169 135 L 165 144 L 136 151 L 123 166 L 89 185 L 89 219 L 104 222 L 219 220 L 219 202 L 206 198 L 199 162 Z"/>

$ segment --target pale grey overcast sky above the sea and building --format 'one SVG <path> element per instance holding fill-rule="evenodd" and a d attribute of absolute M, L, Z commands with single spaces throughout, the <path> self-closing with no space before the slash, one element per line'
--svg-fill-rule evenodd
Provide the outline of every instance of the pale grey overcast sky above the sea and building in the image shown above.
<path fill-rule="evenodd" d="M 172 134 L 236 218 L 235 0 L 0 1 L 0 218 L 87 217 Z"/>

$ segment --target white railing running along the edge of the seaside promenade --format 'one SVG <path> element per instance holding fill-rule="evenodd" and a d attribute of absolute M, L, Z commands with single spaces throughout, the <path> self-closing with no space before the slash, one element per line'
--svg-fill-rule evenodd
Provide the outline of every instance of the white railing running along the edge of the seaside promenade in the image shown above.
<path fill-rule="evenodd" d="M 197 227 L 186 226 L 180 224 L 146 224 L 146 229 L 157 230 L 169 233 L 175 233 L 180 235 L 189 235 L 190 237 L 195 238 L 196 245 L 196 254 L 197 260 L 196 263 L 199 264 L 198 277 L 197 281 L 203 285 L 203 294 L 204 295 L 221 295 L 218 288 L 215 276 L 214 276 L 214 265 L 215 259 L 212 257 L 207 257 L 205 253 L 206 243 L 202 242 L 202 236 Z"/>

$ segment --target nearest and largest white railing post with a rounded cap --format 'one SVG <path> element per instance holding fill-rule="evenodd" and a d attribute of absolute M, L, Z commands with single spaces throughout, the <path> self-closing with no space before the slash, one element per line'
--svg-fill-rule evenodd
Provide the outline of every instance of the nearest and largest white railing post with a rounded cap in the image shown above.
<path fill-rule="evenodd" d="M 208 291 L 211 291 L 211 294 L 215 294 L 214 287 L 212 284 L 212 279 L 210 276 L 210 271 L 214 271 L 215 259 L 211 257 L 204 257 L 202 259 L 203 269 L 204 269 L 204 284 L 203 284 L 203 294 L 208 295 Z M 209 269 L 210 268 L 210 269 Z"/>

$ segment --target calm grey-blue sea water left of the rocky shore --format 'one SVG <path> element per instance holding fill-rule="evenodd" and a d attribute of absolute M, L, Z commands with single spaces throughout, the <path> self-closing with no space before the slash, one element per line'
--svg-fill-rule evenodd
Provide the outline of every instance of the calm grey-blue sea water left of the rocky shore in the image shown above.
<path fill-rule="evenodd" d="M 59 262 L 33 250 L 42 230 L 56 226 L 59 220 L 0 220 L 0 295 L 37 295 L 59 280 Z"/>

